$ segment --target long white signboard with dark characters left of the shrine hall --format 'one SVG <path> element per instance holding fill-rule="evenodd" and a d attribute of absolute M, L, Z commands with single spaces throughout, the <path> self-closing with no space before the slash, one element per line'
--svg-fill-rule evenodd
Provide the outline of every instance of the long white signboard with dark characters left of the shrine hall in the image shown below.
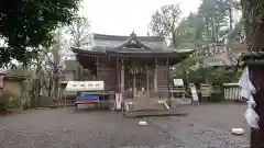
<path fill-rule="evenodd" d="M 67 81 L 66 91 L 100 91 L 105 90 L 103 81 Z"/>

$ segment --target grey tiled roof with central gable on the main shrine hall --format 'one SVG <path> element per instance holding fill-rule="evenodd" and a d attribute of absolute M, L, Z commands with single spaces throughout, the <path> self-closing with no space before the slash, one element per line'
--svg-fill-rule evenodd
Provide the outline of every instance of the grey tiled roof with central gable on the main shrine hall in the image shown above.
<path fill-rule="evenodd" d="M 123 55 L 131 57 L 175 57 L 193 53 L 193 49 L 176 50 L 175 48 L 168 48 L 161 36 L 136 36 L 134 32 L 130 36 L 94 34 L 94 43 L 90 49 L 72 47 L 72 50 L 75 54 L 108 54 L 111 56 Z"/>

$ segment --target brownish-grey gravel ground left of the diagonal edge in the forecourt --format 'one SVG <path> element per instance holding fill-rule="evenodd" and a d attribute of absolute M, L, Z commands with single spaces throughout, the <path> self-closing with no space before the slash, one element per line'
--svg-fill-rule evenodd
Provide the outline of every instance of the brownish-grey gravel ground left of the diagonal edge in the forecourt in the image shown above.
<path fill-rule="evenodd" d="M 34 110 L 0 116 L 0 148 L 177 148 L 156 126 L 120 113 L 74 109 Z"/>

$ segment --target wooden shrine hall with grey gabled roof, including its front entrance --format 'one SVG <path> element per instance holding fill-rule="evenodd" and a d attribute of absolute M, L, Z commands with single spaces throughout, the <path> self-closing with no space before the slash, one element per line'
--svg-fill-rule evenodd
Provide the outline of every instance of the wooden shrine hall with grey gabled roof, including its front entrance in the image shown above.
<path fill-rule="evenodd" d="M 169 66 L 193 50 L 168 48 L 161 36 L 94 34 L 91 49 L 73 47 L 77 60 L 105 82 L 105 92 L 120 93 L 124 106 L 157 109 L 170 100 Z"/>

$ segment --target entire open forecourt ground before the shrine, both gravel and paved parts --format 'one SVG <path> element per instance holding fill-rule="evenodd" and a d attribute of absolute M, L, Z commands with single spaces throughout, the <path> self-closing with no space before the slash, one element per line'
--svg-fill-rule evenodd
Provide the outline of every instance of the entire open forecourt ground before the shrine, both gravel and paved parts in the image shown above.
<path fill-rule="evenodd" d="M 72 107 L 0 116 L 0 148 L 246 148 L 246 105 L 184 106 L 188 116 L 124 118 L 108 111 Z M 232 127 L 246 134 L 233 136 Z"/>

